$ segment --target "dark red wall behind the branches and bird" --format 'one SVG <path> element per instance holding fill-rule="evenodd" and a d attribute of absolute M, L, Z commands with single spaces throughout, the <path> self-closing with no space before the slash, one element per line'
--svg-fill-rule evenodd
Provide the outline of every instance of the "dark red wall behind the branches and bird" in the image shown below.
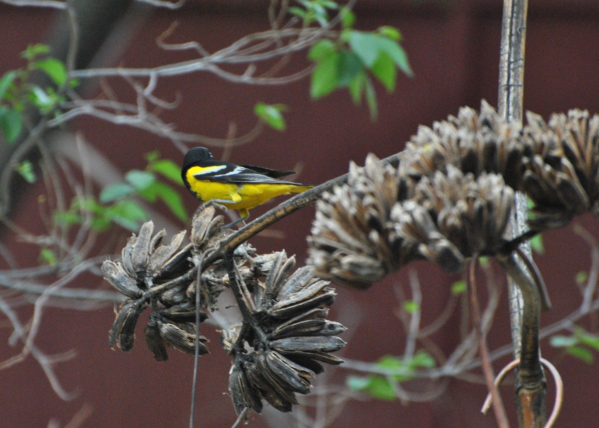
<path fill-rule="evenodd" d="M 594 0 L 532 3 L 527 28 L 525 108 L 544 117 L 574 107 L 592 113 L 599 111 L 599 5 Z M 121 63 L 153 66 L 180 59 L 180 55 L 164 53 L 155 45 L 155 38 L 174 20 L 180 25 L 171 39 L 173 42 L 198 40 L 210 51 L 224 47 L 250 32 L 267 29 L 267 4 L 189 2 L 178 11 L 159 11 L 137 34 Z M 166 122 L 176 123 L 179 130 L 224 137 L 229 122 L 237 124 L 239 133 L 253 126 L 255 102 L 285 102 L 290 107 L 286 132 L 266 130 L 257 141 L 235 149 L 231 159 L 280 168 L 303 162 L 301 180 L 321 183 L 344 174 L 349 160 L 363 163 L 368 152 L 385 157 L 401 150 L 420 123 L 431 125 L 447 114 L 456 114 L 462 105 L 478 108 L 482 98 L 496 104 L 500 1 L 368 0 L 358 2 L 356 13 L 360 29 L 398 26 L 416 73 L 414 78 L 400 76 L 392 95 L 378 87 L 380 113 L 376 123 L 370 121 L 367 108 L 356 108 L 345 92 L 313 102 L 308 96 L 307 81 L 284 87 L 244 86 L 208 74 L 161 81 L 159 95 L 173 99 L 174 93 L 181 92 L 183 96 L 181 108 L 167 111 L 162 117 Z M 46 11 L 0 6 L 3 35 L 0 72 L 19 66 L 19 52 L 29 43 L 43 41 L 50 22 L 52 14 Z M 302 55 L 296 61 L 301 63 Z M 126 93 L 125 86 L 118 83 L 115 86 Z M 182 157 L 164 139 L 137 129 L 94 119 L 82 119 L 76 125 L 122 171 L 143 168 L 143 153 L 155 148 L 164 156 L 177 160 Z M 219 150 L 214 152 L 220 155 Z M 20 200 L 16 221 L 30 224 L 35 221 L 39 192 L 32 190 L 31 197 Z M 186 198 L 186 202 L 192 211 L 195 201 Z M 262 211 L 253 214 L 258 212 Z M 252 243 L 264 253 L 284 247 L 303 260 L 304 236 L 312 217 L 313 208 L 296 213 L 276 226 L 285 232 L 285 239 L 257 237 Z M 595 218 L 579 221 L 599 236 Z M 571 227 L 547 233 L 544 240 L 546 253 L 537 257 L 537 261 L 555 306 L 543 314 L 542 323 L 546 325 L 579 304 L 573 277 L 576 272 L 588 269 L 590 254 L 582 240 L 573 235 Z M 23 266 L 28 259 L 35 260 L 37 255 L 32 254 L 25 247 Z M 430 265 L 418 266 L 425 293 L 424 309 L 429 314 L 426 319 L 431 320 L 443 308 L 449 284 L 456 278 L 441 274 Z M 332 316 L 347 324 L 357 324 L 346 333 L 351 340 L 344 356 L 376 360 L 386 353 L 403 352 L 404 337 L 392 315 L 396 303 L 391 284 L 397 281 L 405 284 L 406 274 L 401 272 L 388 278 L 368 293 L 338 290 L 337 309 Z M 505 300 L 504 296 L 489 337 L 491 347 L 509 342 Z M 83 405 L 92 410 L 83 426 L 187 426 L 192 359 L 173 352 L 168 363 L 158 363 L 141 342 L 129 354 L 111 351 L 106 338 L 112 321 L 111 308 L 91 312 L 49 309 L 38 345 L 49 353 L 71 348 L 77 351 L 74 360 L 59 364 L 56 371 L 67 388 L 80 390 L 80 396 L 72 402 L 58 399 L 37 363 L 29 359 L 0 372 L 0 426 L 46 426 L 53 418 L 62 426 Z M 2 332 L 10 334 L 8 328 Z M 212 353 L 200 362 L 203 375 L 198 414 L 202 427 L 230 426 L 234 416 L 226 394 L 229 362 L 218 350 L 217 335 L 209 336 L 213 341 Z M 5 344 L 4 334 L 2 338 Z M 447 325 L 435 340 L 446 350 L 451 349 L 458 340 L 455 326 Z M 14 352 L 6 345 L 2 348 L 2 359 Z M 556 363 L 565 381 L 566 399 L 558 425 L 597 424 L 597 365 L 564 358 L 546 341 L 543 355 Z M 495 369 L 506 361 L 496 363 Z M 347 374 L 341 369 L 331 372 L 339 383 Z M 511 391 L 509 387 L 503 391 L 508 412 L 513 414 Z M 483 417 L 479 413 L 484 394 L 483 386 L 452 381 L 447 392 L 431 403 L 402 406 L 399 402 L 354 401 L 332 426 L 495 426 L 492 415 Z M 261 418 L 252 417 L 251 426 L 266 424 Z"/>

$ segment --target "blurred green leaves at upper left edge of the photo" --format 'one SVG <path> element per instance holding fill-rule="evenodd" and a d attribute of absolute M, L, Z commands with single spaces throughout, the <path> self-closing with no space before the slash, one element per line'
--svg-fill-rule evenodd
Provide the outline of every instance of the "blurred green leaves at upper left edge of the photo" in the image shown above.
<path fill-rule="evenodd" d="M 48 45 L 29 45 L 21 53 L 27 65 L 7 71 L 0 77 L 0 131 L 8 144 L 16 141 L 23 131 L 22 112 L 27 105 L 33 105 L 46 116 L 58 111 L 59 105 L 65 101 L 60 90 L 29 83 L 32 72 L 43 72 L 58 88 L 65 84 L 69 87 L 78 84 L 76 80 L 68 78 L 62 61 L 47 56 L 49 52 Z"/>

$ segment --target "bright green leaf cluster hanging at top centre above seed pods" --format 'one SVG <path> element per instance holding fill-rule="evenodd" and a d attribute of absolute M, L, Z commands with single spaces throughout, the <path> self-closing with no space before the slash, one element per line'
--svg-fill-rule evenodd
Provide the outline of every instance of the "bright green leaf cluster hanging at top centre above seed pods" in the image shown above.
<path fill-rule="evenodd" d="M 341 8 L 340 15 L 343 26 L 340 38 L 320 40 L 308 52 L 308 58 L 316 64 L 311 75 L 310 95 L 317 99 L 347 87 L 355 104 L 366 99 L 370 116 L 376 119 L 378 107 L 371 76 L 388 92 L 393 92 L 397 69 L 413 75 L 406 51 L 400 45 L 401 33 L 392 26 L 358 31 L 353 28 L 352 11 Z"/>

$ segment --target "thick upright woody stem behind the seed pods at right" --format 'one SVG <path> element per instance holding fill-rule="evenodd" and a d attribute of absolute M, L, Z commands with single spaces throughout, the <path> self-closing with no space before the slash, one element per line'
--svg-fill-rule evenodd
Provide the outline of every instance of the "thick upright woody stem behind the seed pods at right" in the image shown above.
<path fill-rule="evenodd" d="M 506 122 L 522 122 L 527 9 L 527 0 L 504 0 L 497 110 Z M 525 232 L 528 218 L 525 196 L 517 193 L 515 202 L 512 236 Z M 525 245 L 522 251 L 532 260 L 530 245 Z M 512 257 L 506 262 L 504 267 L 515 280 L 509 281 L 514 354 L 521 357 L 516 375 L 518 422 L 521 427 L 541 427 L 545 422 L 546 384 L 539 362 L 539 293 L 534 286 L 531 290 L 530 275 L 525 273 L 524 266 L 516 264 Z"/>

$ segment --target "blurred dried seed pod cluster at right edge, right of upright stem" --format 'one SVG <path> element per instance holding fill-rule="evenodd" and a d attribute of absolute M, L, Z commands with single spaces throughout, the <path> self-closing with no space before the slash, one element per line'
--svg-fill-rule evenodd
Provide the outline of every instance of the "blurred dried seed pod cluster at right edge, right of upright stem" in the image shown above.
<path fill-rule="evenodd" d="M 570 110 L 546 123 L 527 113 L 522 141 L 526 159 L 522 189 L 535 203 L 537 230 L 562 227 L 576 215 L 599 213 L 599 115 Z"/>

